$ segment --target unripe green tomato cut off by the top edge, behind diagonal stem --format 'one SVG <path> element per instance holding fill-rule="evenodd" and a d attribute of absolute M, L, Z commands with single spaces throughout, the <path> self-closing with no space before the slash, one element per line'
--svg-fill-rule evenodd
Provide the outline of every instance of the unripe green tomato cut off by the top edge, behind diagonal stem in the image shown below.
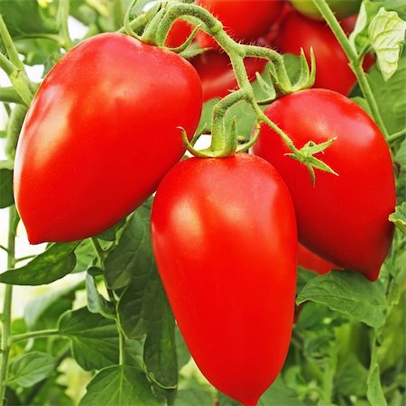
<path fill-rule="evenodd" d="M 327 3 L 338 20 L 357 14 L 361 0 L 327 0 Z M 291 0 L 291 4 L 301 14 L 314 20 L 323 20 L 323 16 L 318 11 L 318 7 L 313 0 Z"/>

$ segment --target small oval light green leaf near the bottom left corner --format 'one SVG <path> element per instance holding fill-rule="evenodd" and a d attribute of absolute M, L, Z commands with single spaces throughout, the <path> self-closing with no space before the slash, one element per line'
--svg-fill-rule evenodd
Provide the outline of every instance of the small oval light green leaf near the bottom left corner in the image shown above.
<path fill-rule="evenodd" d="M 15 383 L 29 388 L 52 374 L 56 366 L 53 356 L 32 351 L 14 358 L 11 365 L 12 376 L 8 384 Z"/>

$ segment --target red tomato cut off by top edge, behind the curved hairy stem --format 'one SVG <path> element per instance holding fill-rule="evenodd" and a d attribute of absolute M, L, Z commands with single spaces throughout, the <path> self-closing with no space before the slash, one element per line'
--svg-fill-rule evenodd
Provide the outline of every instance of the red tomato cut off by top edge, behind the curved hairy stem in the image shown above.
<path fill-rule="evenodd" d="M 197 0 L 197 5 L 220 20 L 226 32 L 236 41 L 254 42 L 267 32 L 281 13 L 281 0 Z M 198 32 L 197 40 L 202 48 L 216 47 L 205 32 Z"/>

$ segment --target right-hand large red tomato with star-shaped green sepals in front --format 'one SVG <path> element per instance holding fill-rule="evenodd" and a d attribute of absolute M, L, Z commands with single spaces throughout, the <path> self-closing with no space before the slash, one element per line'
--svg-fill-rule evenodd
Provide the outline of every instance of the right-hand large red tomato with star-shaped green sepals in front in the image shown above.
<path fill-rule="evenodd" d="M 337 137 L 325 161 L 339 176 L 309 171 L 281 138 L 263 125 L 254 153 L 270 161 L 286 181 L 298 218 L 300 243 L 340 267 L 361 272 L 371 281 L 392 242 L 388 216 L 395 207 L 391 155 L 374 121 L 359 106 L 336 92 L 308 89 L 282 97 L 265 114 L 301 148 L 310 140 Z"/>

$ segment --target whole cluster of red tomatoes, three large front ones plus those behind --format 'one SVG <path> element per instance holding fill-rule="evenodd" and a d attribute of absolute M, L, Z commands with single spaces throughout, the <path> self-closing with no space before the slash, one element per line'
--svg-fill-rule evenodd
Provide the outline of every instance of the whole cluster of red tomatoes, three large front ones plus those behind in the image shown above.
<path fill-rule="evenodd" d="M 354 86 L 324 23 L 282 13 L 282 2 L 198 4 L 241 42 L 261 42 L 276 22 L 281 51 L 314 48 L 316 87 L 347 94 Z M 178 22 L 166 45 L 178 46 L 189 32 L 189 23 Z M 203 32 L 198 43 L 213 45 Z M 334 81 L 325 75 L 332 63 Z M 44 79 L 23 125 L 16 206 L 32 244 L 72 241 L 113 226 L 158 188 L 152 245 L 182 335 L 211 383 L 255 405 L 287 355 L 298 235 L 303 266 L 350 268 L 374 281 L 392 242 L 392 161 L 360 107 L 315 88 L 282 97 L 265 114 L 298 148 L 336 137 L 317 157 L 339 176 L 318 171 L 313 185 L 267 125 L 253 153 L 177 163 L 185 152 L 180 127 L 190 139 L 202 101 L 236 87 L 228 58 L 216 49 L 192 64 L 117 33 L 69 51 Z M 250 79 L 263 66 L 245 60 Z"/>

